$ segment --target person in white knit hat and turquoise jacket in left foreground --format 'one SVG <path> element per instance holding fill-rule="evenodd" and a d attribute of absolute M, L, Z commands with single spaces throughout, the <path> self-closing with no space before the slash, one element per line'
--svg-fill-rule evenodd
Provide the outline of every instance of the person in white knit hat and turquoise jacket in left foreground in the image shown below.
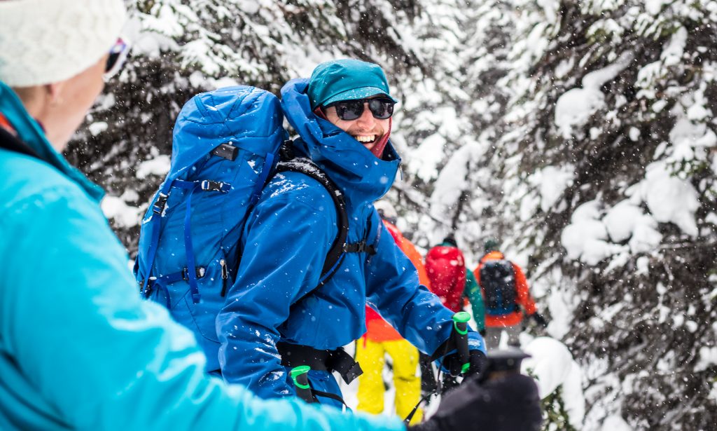
<path fill-rule="evenodd" d="M 60 154 L 126 52 L 124 14 L 0 1 L 0 430 L 403 430 L 207 376 L 191 333 L 140 299 L 103 191 Z"/>

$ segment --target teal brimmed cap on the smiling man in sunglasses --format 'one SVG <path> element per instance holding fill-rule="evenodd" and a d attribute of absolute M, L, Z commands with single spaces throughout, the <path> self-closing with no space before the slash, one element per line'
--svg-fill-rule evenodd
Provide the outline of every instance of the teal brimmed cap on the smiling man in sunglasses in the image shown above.
<path fill-rule="evenodd" d="M 311 109 L 339 100 L 356 100 L 389 93 L 389 83 L 379 65 L 361 60 L 344 59 L 316 66 L 309 80 Z"/>

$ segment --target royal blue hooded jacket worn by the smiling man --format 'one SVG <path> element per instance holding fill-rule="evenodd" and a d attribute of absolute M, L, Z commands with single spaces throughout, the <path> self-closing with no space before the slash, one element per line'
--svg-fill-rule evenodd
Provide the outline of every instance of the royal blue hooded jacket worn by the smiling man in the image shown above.
<path fill-rule="evenodd" d="M 348 242 L 366 239 L 377 253 L 348 253 L 326 285 L 297 303 L 318 285 L 336 237 L 336 209 L 326 189 L 303 174 L 279 174 L 267 184 L 247 219 L 237 280 L 217 316 L 224 379 L 267 398 L 294 393 L 280 364 L 278 341 L 315 349 L 349 344 L 366 332 L 367 302 L 428 354 L 450 336 L 452 327 L 453 313 L 419 285 L 414 266 L 373 206 L 394 181 L 397 153 L 389 143 L 379 160 L 313 115 L 307 85 L 308 80 L 292 80 L 282 88 L 282 108 L 300 135 L 294 150 L 318 164 L 346 196 Z M 485 351 L 478 333 L 471 339 Z"/>

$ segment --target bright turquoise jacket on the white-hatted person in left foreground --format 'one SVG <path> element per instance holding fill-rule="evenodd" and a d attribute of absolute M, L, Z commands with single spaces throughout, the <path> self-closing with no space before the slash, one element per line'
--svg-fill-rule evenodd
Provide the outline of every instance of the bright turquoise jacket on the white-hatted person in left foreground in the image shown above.
<path fill-rule="evenodd" d="M 0 82 L 38 158 L 0 149 L 0 430 L 402 430 L 204 374 L 194 337 L 141 300 L 101 190 Z"/>

